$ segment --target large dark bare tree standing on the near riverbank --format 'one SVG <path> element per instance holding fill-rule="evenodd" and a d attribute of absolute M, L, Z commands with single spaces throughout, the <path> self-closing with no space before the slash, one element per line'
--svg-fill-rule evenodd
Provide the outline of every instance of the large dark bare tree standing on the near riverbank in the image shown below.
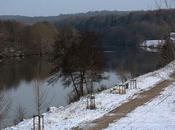
<path fill-rule="evenodd" d="M 95 33 L 73 28 L 64 28 L 55 43 L 54 72 L 65 86 L 72 85 L 79 97 L 89 91 L 92 82 L 104 78 L 105 63 L 99 43 Z"/>

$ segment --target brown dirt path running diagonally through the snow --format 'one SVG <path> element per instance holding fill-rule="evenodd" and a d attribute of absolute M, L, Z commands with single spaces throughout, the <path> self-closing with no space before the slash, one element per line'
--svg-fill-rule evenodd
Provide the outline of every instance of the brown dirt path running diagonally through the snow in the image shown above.
<path fill-rule="evenodd" d="M 175 81 L 175 75 L 173 74 L 171 77 L 173 77 L 172 80 L 164 80 L 158 83 L 150 90 L 137 94 L 137 97 L 135 99 L 130 99 L 128 102 L 123 103 L 121 106 L 112 110 L 108 114 L 105 114 L 103 117 L 89 122 L 83 126 L 83 128 L 77 128 L 76 130 L 101 130 L 107 128 L 110 123 L 118 121 L 131 111 L 135 110 L 137 107 L 144 105 L 145 103 L 158 96 L 166 87 Z"/>

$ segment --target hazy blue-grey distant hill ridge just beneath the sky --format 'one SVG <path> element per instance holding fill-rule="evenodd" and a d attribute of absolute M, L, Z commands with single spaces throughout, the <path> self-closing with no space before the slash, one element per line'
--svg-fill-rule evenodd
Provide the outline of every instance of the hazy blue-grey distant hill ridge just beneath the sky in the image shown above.
<path fill-rule="evenodd" d="M 28 16 L 20 16 L 20 15 L 0 15 L 0 20 L 10 20 L 16 22 L 22 22 L 25 24 L 34 24 L 41 21 L 47 22 L 58 22 L 64 21 L 67 19 L 77 19 L 77 18 L 89 18 L 94 16 L 106 16 L 106 15 L 126 15 L 129 12 L 127 11 L 95 11 L 95 12 L 87 12 L 87 13 L 77 13 L 77 14 L 60 14 L 58 16 L 37 16 L 37 17 L 28 17 Z"/>

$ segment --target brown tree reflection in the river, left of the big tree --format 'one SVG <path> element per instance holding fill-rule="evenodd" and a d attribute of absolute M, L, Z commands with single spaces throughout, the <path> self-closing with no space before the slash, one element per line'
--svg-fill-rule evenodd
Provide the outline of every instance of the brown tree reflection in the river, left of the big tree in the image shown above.
<path fill-rule="evenodd" d="M 37 64 L 41 63 L 41 75 L 36 75 Z M 27 57 L 25 59 L 10 59 L 0 63 L 1 88 L 17 87 L 21 81 L 30 82 L 33 79 L 48 77 L 51 64 L 47 58 Z"/>

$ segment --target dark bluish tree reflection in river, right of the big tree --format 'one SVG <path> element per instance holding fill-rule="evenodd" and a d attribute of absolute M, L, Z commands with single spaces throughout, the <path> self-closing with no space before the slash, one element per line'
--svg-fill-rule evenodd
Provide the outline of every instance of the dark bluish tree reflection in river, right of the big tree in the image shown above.
<path fill-rule="evenodd" d="M 142 51 L 138 48 L 107 54 L 110 68 L 116 70 L 122 81 L 153 71 L 159 66 L 159 54 Z"/>

